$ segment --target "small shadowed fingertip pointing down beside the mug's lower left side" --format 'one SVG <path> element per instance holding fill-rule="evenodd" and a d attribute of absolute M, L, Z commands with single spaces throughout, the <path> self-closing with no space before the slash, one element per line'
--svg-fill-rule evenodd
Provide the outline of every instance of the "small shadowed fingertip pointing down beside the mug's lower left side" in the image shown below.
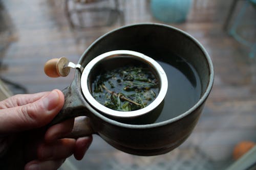
<path fill-rule="evenodd" d="M 87 136 L 87 137 L 81 137 L 76 140 L 76 145 L 75 145 L 75 149 L 74 149 L 74 157 L 77 160 L 81 160 L 83 158 L 84 154 L 90 147 L 92 140 L 93 140 L 92 135 Z"/>

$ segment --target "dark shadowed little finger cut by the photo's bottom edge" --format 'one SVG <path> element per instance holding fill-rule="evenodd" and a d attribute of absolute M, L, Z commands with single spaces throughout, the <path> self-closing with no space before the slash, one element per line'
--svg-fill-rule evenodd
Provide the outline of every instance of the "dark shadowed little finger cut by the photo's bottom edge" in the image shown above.
<path fill-rule="evenodd" d="M 49 160 L 49 161 L 39 161 L 34 160 L 26 164 L 25 170 L 56 170 L 61 164 L 65 161 L 65 159 L 60 160 Z"/>

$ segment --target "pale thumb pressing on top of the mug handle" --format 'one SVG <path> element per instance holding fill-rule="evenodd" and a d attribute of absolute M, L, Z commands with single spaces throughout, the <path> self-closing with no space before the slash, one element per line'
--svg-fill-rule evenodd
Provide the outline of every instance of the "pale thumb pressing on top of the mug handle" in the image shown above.
<path fill-rule="evenodd" d="M 53 90 L 39 100 L 0 110 L 0 134 L 42 127 L 51 122 L 64 104 L 64 95 Z"/>

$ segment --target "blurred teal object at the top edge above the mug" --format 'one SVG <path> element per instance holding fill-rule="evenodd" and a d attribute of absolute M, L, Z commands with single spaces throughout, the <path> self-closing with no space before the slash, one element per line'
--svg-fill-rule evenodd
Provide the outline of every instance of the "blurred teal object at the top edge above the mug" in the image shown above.
<path fill-rule="evenodd" d="M 151 0 L 153 16 L 163 22 L 183 22 L 186 20 L 193 0 Z"/>

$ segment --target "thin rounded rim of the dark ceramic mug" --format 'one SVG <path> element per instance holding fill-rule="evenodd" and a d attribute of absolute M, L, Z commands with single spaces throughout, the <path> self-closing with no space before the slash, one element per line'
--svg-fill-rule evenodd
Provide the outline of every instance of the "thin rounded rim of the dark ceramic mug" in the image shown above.
<path fill-rule="evenodd" d="M 168 25 L 165 25 L 165 24 L 162 24 L 162 23 L 135 23 L 135 24 L 132 24 L 132 25 L 127 25 L 127 26 L 122 26 L 122 27 L 119 27 L 117 29 L 114 29 L 108 33 L 105 33 L 104 35 L 100 36 L 99 38 L 97 38 L 88 48 L 86 51 L 84 51 L 84 53 L 81 55 L 78 63 L 79 64 L 82 64 L 82 59 L 84 56 L 86 56 L 86 54 L 91 50 L 91 48 L 96 44 L 98 43 L 99 41 L 101 41 L 104 37 L 106 36 L 109 36 L 110 34 L 112 33 L 115 33 L 116 31 L 118 30 L 122 30 L 122 29 L 126 29 L 126 28 L 131 28 L 131 27 L 137 27 L 137 26 L 158 26 L 158 27 L 164 27 L 164 28 L 169 28 L 169 29 L 172 29 L 176 32 L 179 32 L 183 35 L 185 35 L 187 38 L 193 40 L 193 42 L 198 45 L 198 47 L 201 49 L 201 51 L 203 52 L 204 54 L 204 57 L 207 61 L 207 64 L 208 64 L 208 67 L 209 67 L 209 81 L 208 81 L 208 84 L 206 86 L 206 89 L 203 93 L 203 95 L 200 97 L 199 101 L 193 106 L 191 107 L 190 109 L 188 109 L 187 111 L 183 112 L 182 114 L 176 116 L 176 117 L 173 117 L 173 118 L 170 118 L 168 120 L 164 120 L 163 122 L 159 122 L 159 123 L 153 123 L 153 124 L 145 124 L 145 125 L 132 125 L 132 124 L 125 124 L 125 123 L 121 123 L 121 122 L 117 122 L 116 120 L 113 120 L 111 118 L 108 118 L 108 117 L 105 117 L 104 115 L 100 114 L 99 112 L 97 112 L 97 110 L 95 110 L 93 107 L 91 108 L 88 108 L 93 114 L 95 114 L 96 116 L 98 116 L 100 119 L 104 120 L 105 122 L 107 123 L 110 123 L 112 125 L 115 125 L 115 126 L 121 126 L 121 127 L 124 127 L 124 128 L 130 128 L 130 129 L 149 129 L 149 128 L 155 128 L 155 127 L 161 127 L 161 126 L 165 126 L 165 125 L 168 125 L 170 123 L 173 123 L 173 122 L 176 122 L 178 121 L 179 119 L 187 116 L 188 114 L 190 114 L 191 112 L 195 111 L 197 108 L 199 108 L 202 104 L 204 104 L 204 102 L 206 101 L 206 99 L 208 98 L 208 95 L 212 89 L 212 86 L 214 84 L 214 66 L 212 64 L 212 61 L 211 61 L 211 58 L 210 56 L 208 55 L 208 53 L 206 52 L 204 46 L 196 39 L 194 38 L 193 36 L 191 36 L 190 34 L 186 33 L 185 31 L 181 30 L 181 29 L 178 29 L 178 28 L 175 28 L 173 26 L 168 26 Z M 77 70 L 76 71 L 76 74 L 78 74 L 79 71 Z M 81 79 L 81 77 L 79 77 L 79 75 L 76 75 L 78 76 L 78 81 L 79 79 Z M 80 82 L 78 82 L 80 83 Z M 90 115 L 89 115 L 90 117 Z"/>

